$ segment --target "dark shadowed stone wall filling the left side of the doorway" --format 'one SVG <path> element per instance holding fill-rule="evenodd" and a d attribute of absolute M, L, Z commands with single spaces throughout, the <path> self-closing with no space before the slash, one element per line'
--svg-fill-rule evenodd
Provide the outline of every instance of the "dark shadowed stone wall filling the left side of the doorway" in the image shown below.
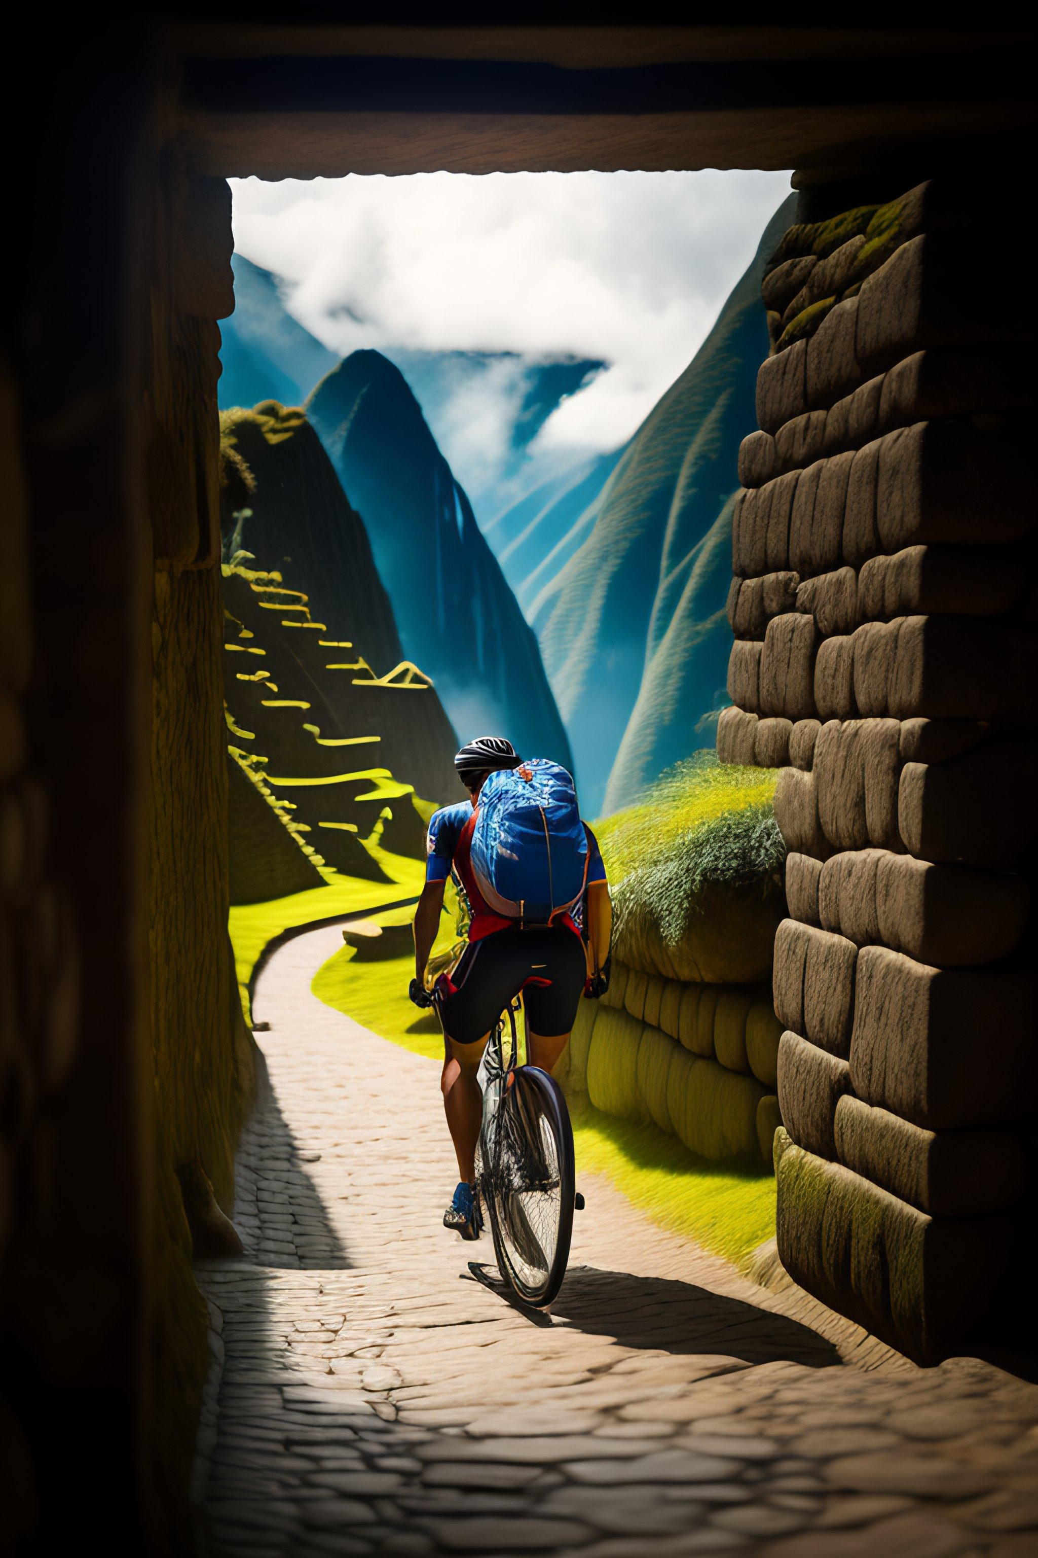
<path fill-rule="evenodd" d="M 75 134 L 37 181 L 89 241 L 33 249 L 0 346 L 0 1519 L 11 1550 L 89 1528 L 162 1558 L 195 1544 L 191 1254 L 237 1239 L 254 1084 L 227 939 L 230 199 L 149 156 L 107 47 L 62 73 Z"/>

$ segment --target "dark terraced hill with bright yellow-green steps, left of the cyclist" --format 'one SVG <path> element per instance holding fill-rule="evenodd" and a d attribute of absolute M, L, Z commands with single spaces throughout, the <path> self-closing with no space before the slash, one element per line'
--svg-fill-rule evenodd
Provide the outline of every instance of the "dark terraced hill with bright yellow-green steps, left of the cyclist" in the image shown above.
<path fill-rule="evenodd" d="M 302 411 L 223 414 L 221 520 L 232 901 L 386 880 L 373 846 L 423 855 L 462 798 L 458 738 Z"/>

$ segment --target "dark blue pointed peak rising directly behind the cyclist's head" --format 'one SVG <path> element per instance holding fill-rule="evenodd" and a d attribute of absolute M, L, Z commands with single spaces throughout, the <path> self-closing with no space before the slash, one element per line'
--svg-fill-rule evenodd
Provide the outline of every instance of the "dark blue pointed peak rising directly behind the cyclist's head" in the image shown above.
<path fill-rule="evenodd" d="M 353 352 L 307 411 L 364 519 L 403 653 L 462 738 L 507 734 L 570 767 L 537 640 L 400 369 Z"/>

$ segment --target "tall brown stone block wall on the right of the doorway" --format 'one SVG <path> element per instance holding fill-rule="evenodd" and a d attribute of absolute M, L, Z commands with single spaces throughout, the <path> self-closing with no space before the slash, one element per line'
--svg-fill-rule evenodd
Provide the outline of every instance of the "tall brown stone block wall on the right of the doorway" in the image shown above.
<path fill-rule="evenodd" d="M 921 1362 L 1012 1345 L 1033 1235 L 1035 329 L 991 220 L 931 181 L 783 238 L 717 731 L 783 765 L 778 1251 Z"/>

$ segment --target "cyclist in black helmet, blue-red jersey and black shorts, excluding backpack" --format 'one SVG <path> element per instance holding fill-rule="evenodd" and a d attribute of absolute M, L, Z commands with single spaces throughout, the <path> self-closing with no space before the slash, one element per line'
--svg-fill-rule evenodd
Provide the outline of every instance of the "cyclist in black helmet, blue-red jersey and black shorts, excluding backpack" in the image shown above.
<path fill-rule="evenodd" d="M 493 913 L 476 885 L 468 843 L 479 790 L 490 773 L 518 768 L 520 763 L 512 743 L 500 735 L 482 735 L 461 748 L 454 767 L 472 799 L 440 807 L 433 815 L 425 888 L 414 915 L 416 977 L 411 999 L 417 1006 L 428 1006 L 431 996 L 425 988 L 425 968 L 436 941 L 448 876 L 453 876 L 470 908 L 468 946 L 453 974 L 437 980 L 445 1041 L 440 1089 L 461 1175 L 453 1203 L 444 1214 L 444 1226 L 456 1229 L 462 1239 L 478 1239 L 482 1223 L 475 1201 L 475 1154 L 482 1120 L 476 1070 L 500 1013 L 524 991 L 528 1059 L 549 1072 L 566 1047 L 580 996 L 602 996 L 608 988 L 612 904 L 602 855 L 587 824 L 584 907 L 551 925 L 520 925 Z"/>

